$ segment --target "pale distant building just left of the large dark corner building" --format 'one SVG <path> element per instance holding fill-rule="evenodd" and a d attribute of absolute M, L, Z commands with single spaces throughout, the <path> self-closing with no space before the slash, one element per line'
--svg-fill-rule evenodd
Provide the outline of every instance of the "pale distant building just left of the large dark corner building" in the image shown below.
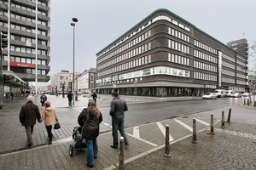
<path fill-rule="evenodd" d="M 79 75 L 78 89 L 82 94 L 96 91 L 96 68 L 90 68 Z"/>

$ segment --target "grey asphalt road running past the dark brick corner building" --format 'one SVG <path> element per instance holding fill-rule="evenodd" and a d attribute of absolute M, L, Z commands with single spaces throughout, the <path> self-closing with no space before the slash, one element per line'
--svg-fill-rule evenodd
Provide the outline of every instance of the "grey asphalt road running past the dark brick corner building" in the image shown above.
<path fill-rule="evenodd" d="M 201 111 L 212 111 L 222 107 L 236 105 L 241 99 L 194 99 L 184 101 L 154 101 L 128 103 L 128 111 L 125 112 L 125 127 L 134 127 L 148 122 L 158 122 L 177 116 L 190 115 Z M 109 116 L 110 100 L 101 101 L 99 108 L 102 111 L 103 120 L 111 125 Z M 82 110 L 82 108 L 78 108 Z"/>

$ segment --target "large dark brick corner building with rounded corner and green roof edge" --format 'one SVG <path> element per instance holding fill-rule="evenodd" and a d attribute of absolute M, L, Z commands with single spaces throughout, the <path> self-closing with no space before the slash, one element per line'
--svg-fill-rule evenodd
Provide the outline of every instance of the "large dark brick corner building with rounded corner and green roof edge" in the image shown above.
<path fill-rule="evenodd" d="M 158 9 L 96 54 L 101 94 L 196 95 L 247 86 L 247 56 Z"/>

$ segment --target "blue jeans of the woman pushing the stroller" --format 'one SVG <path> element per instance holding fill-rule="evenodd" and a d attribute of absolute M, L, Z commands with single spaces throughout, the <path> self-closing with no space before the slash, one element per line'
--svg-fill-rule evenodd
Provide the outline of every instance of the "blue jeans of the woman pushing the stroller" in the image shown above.
<path fill-rule="evenodd" d="M 93 159 L 98 156 L 97 139 L 85 139 L 87 144 L 86 161 L 87 165 L 93 165 Z"/>

